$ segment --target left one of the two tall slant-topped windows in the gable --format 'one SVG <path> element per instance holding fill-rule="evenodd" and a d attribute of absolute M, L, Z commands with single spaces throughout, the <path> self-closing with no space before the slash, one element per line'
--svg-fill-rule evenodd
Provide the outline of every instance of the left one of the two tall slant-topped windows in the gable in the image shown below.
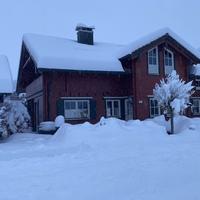
<path fill-rule="evenodd" d="M 158 48 L 155 47 L 148 51 L 148 73 L 159 74 L 158 68 Z"/>

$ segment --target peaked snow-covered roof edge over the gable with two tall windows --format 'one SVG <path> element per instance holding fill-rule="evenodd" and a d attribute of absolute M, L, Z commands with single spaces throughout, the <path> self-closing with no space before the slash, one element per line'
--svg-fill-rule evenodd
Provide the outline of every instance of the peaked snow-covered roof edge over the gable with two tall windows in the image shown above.
<path fill-rule="evenodd" d="M 191 52 L 194 56 L 200 59 L 200 52 L 192 47 L 189 43 L 187 43 L 185 40 L 180 38 L 176 33 L 174 33 L 170 28 L 163 28 L 158 31 L 155 31 L 151 34 L 148 34 L 131 44 L 128 44 L 119 54 L 119 57 L 126 56 L 128 54 L 131 54 L 132 52 L 136 51 L 137 49 L 144 47 L 151 42 L 159 39 L 160 37 L 168 34 L 173 39 L 175 39 L 179 44 L 181 44 L 185 49 L 187 49 L 189 52 Z"/>

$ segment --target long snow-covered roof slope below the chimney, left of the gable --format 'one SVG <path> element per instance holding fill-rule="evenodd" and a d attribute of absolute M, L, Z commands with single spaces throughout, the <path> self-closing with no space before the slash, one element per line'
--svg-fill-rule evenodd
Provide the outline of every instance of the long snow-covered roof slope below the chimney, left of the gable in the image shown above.
<path fill-rule="evenodd" d="M 124 71 L 117 58 L 122 45 L 96 42 L 86 45 L 66 38 L 37 34 L 25 34 L 23 41 L 38 68 Z"/>

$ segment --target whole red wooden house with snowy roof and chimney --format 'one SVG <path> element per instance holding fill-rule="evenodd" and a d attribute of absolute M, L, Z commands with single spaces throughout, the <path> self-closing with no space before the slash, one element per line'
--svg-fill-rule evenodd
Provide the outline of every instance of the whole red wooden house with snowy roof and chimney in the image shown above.
<path fill-rule="evenodd" d="M 127 46 L 96 43 L 93 29 L 77 26 L 77 41 L 24 35 L 17 90 L 27 93 L 35 127 L 59 114 L 69 123 L 159 115 L 155 83 L 173 69 L 189 80 L 200 63 L 200 53 L 169 29 Z"/>

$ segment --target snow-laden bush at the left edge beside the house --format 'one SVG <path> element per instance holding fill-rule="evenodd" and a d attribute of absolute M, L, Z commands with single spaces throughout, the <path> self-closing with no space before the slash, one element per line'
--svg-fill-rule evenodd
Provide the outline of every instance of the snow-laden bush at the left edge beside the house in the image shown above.
<path fill-rule="evenodd" d="M 0 107 L 0 132 L 3 136 L 24 132 L 30 125 L 30 116 L 22 99 L 6 100 Z"/>

